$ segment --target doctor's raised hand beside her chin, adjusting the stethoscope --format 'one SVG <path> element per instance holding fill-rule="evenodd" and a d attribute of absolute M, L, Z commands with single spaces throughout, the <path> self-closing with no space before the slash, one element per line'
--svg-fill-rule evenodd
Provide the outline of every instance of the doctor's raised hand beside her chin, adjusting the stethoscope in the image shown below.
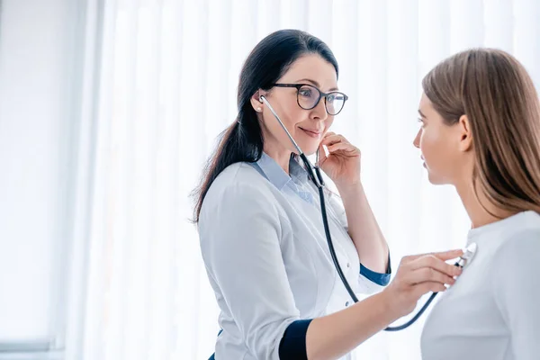
<path fill-rule="evenodd" d="M 323 145 L 329 149 L 328 157 Z M 319 165 L 338 189 L 360 184 L 360 150 L 342 135 L 325 134 L 319 145 Z"/>

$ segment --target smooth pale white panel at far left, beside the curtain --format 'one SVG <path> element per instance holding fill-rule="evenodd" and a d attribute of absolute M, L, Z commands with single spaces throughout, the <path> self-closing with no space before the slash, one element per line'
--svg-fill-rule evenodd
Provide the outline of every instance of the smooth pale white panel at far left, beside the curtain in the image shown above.
<path fill-rule="evenodd" d="M 76 3 L 0 0 L 0 352 L 63 329 Z M 4 349 L 5 350 L 5 349 Z"/>

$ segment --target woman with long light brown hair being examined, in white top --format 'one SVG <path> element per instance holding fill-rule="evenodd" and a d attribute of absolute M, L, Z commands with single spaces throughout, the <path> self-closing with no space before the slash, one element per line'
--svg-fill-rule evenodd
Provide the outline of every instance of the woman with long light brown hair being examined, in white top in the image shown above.
<path fill-rule="evenodd" d="M 540 359 L 540 104 L 525 68 L 496 49 L 447 58 L 422 82 L 421 150 L 453 184 L 478 250 L 426 321 L 424 360 Z"/>

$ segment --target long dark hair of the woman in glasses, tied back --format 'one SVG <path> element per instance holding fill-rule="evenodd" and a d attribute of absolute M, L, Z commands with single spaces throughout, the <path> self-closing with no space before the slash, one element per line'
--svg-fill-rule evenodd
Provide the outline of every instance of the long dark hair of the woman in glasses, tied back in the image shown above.
<path fill-rule="evenodd" d="M 269 90 L 293 62 L 304 54 L 315 53 L 336 68 L 338 62 L 320 39 L 299 30 L 280 30 L 261 40 L 242 67 L 238 82 L 238 117 L 220 135 L 216 152 L 208 160 L 201 184 L 194 190 L 193 222 L 199 221 L 202 202 L 213 181 L 229 165 L 256 162 L 263 154 L 263 133 L 250 99 L 259 89 Z"/>

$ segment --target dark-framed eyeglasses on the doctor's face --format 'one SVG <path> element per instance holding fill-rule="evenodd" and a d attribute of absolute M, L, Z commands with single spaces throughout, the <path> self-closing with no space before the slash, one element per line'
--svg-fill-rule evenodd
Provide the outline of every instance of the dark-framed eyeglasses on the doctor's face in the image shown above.
<path fill-rule="evenodd" d="M 338 91 L 332 91 L 330 93 L 323 93 L 317 87 L 308 84 L 274 84 L 276 87 L 295 87 L 296 101 L 298 106 L 304 110 L 311 110 L 315 108 L 320 102 L 320 98 L 324 96 L 324 107 L 329 115 L 338 115 L 345 102 L 348 100 L 348 96 Z"/>

